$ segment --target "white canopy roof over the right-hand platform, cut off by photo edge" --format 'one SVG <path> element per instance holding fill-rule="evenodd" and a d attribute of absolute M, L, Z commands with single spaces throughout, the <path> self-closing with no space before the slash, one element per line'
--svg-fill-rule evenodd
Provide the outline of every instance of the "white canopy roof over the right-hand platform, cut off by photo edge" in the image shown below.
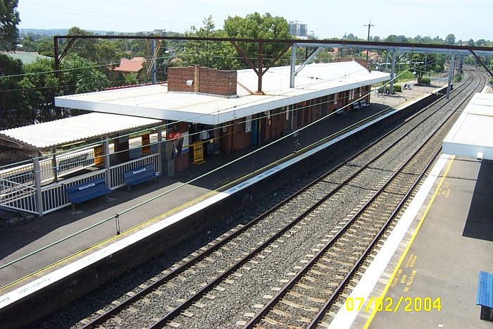
<path fill-rule="evenodd" d="M 477 93 L 443 142 L 447 154 L 493 160 L 493 94 Z"/>

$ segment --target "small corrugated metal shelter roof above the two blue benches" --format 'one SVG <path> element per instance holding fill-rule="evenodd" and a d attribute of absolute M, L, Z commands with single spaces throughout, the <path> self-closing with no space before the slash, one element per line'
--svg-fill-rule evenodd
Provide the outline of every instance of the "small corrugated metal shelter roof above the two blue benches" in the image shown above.
<path fill-rule="evenodd" d="M 49 149 L 87 139 L 159 125 L 161 120 L 89 113 L 0 131 L 0 139 L 26 149 Z"/>

